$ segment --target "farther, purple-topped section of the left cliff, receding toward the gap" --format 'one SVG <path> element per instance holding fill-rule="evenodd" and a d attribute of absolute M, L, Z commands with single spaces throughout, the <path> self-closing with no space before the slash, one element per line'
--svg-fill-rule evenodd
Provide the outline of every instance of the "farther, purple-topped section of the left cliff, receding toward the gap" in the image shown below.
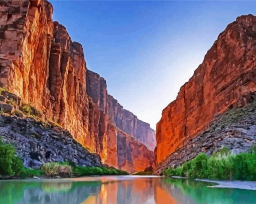
<path fill-rule="evenodd" d="M 106 81 L 87 70 L 89 134 L 102 161 L 125 170 L 144 171 L 154 165 L 155 132 L 107 94 Z M 150 165 L 149 165 L 150 164 Z"/>

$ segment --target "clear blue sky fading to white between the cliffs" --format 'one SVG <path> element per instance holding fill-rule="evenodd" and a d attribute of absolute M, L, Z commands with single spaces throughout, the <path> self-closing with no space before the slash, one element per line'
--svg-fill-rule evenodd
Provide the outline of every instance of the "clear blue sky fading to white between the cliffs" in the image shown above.
<path fill-rule="evenodd" d="M 83 45 L 87 68 L 108 93 L 156 129 L 162 110 L 193 75 L 247 1 L 50 1 L 54 20 Z"/>

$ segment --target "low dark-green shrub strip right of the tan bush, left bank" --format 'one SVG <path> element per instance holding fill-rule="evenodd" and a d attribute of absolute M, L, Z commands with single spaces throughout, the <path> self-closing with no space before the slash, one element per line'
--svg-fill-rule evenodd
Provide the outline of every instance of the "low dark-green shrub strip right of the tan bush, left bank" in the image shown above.
<path fill-rule="evenodd" d="M 77 176 L 84 175 L 128 175 L 126 171 L 122 171 L 113 167 L 90 167 L 90 166 L 75 166 L 73 173 Z"/>

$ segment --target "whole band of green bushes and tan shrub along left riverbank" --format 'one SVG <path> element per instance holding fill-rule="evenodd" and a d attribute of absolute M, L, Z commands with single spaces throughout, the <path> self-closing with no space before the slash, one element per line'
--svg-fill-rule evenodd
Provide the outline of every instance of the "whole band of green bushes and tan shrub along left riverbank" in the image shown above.
<path fill-rule="evenodd" d="M 49 162 L 45 163 L 41 169 L 26 168 L 22 159 L 15 154 L 14 146 L 3 143 L 0 138 L 0 177 L 128 175 L 126 171 L 113 167 L 76 166 L 70 162 Z"/>

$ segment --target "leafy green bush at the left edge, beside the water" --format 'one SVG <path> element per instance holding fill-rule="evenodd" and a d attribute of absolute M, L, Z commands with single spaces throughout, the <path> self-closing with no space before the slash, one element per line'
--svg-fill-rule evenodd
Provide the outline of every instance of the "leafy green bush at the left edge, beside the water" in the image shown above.
<path fill-rule="evenodd" d="M 20 175 L 25 168 L 20 157 L 15 156 L 15 148 L 0 140 L 0 174 L 6 176 Z"/>

